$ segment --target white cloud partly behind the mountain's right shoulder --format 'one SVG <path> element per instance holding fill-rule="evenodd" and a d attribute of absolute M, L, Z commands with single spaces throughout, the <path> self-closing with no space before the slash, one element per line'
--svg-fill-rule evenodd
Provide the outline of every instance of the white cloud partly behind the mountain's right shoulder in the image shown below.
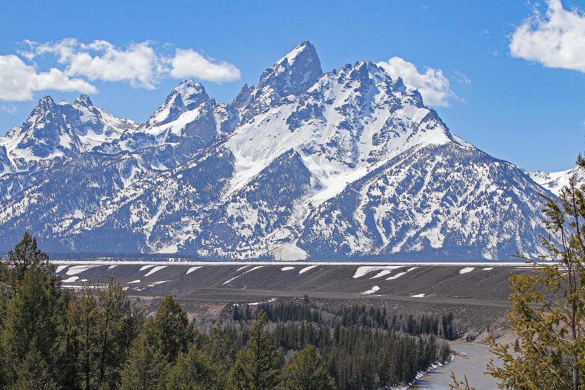
<path fill-rule="evenodd" d="M 450 89 L 449 78 L 441 69 L 425 67 L 424 73 L 419 73 L 415 64 L 405 61 L 400 57 L 392 57 L 388 61 L 378 63 L 390 75 L 390 77 L 402 77 L 405 84 L 416 87 L 421 93 L 425 104 L 448 107 L 449 99 L 458 99 Z"/>

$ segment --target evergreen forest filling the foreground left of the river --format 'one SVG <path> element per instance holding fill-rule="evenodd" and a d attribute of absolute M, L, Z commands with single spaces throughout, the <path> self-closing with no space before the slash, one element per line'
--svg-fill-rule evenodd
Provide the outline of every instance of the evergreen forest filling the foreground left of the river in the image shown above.
<path fill-rule="evenodd" d="M 62 289 L 25 233 L 0 264 L 0 390 L 370 390 L 450 355 L 426 317 L 415 336 L 370 307 L 277 302 L 189 321 L 167 296 L 147 310 L 113 279 Z"/>

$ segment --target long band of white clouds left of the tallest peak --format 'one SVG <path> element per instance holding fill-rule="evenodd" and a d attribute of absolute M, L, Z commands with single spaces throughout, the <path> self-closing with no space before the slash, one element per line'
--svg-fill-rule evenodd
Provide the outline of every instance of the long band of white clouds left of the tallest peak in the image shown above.
<path fill-rule="evenodd" d="M 83 43 L 66 38 L 44 43 L 25 40 L 23 45 L 27 49 L 18 52 L 19 56 L 0 55 L 2 100 L 31 100 L 42 90 L 97 93 L 91 84 L 97 80 L 154 89 L 164 78 L 193 77 L 223 83 L 241 77 L 240 70 L 227 61 L 215 61 L 193 49 L 176 49 L 167 56 L 150 41 L 117 47 L 106 40 Z M 46 54 L 54 56 L 55 67 L 39 71 L 35 60 Z"/>

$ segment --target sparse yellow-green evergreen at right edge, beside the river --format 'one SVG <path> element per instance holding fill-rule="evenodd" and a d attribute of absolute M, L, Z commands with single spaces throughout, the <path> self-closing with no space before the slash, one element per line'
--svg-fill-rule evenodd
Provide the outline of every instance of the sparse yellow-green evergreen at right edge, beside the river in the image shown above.
<path fill-rule="evenodd" d="M 585 168 L 581 156 L 577 164 Z M 560 242 L 542 237 L 543 259 L 553 264 L 532 262 L 538 272 L 510 277 L 508 321 L 518 334 L 517 354 L 491 337 L 503 367 L 492 362 L 488 372 L 518 390 L 585 389 L 585 187 L 572 177 L 557 199 L 543 197 L 545 227 Z"/>

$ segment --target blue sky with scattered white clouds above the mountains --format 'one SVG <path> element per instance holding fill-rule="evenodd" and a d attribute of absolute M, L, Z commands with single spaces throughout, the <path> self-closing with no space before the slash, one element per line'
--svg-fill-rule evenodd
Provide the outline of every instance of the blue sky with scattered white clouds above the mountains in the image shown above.
<path fill-rule="evenodd" d="M 386 61 L 422 83 L 426 102 L 466 141 L 527 170 L 564 170 L 585 150 L 585 4 L 559 7 L 558 0 L 3 2 L 0 134 L 22 124 L 46 94 L 73 101 L 88 92 L 95 105 L 138 122 L 185 76 L 230 101 L 308 39 L 324 71 Z M 128 55 L 118 69 L 108 67 L 108 53 Z M 153 58 L 144 69 L 132 63 Z"/>

